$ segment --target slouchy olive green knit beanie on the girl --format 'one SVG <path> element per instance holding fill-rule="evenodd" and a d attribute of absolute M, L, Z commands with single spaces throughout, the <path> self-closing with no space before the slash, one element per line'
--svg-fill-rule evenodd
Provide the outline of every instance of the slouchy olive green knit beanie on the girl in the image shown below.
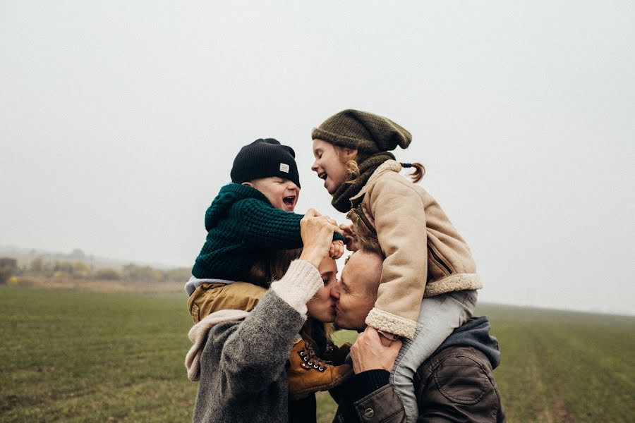
<path fill-rule="evenodd" d="M 370 154 L 408 148 L 412 140 L 407 130 L 390 119 L 353 109 L 340 111 L 313 128 L 311 137 Z"/>

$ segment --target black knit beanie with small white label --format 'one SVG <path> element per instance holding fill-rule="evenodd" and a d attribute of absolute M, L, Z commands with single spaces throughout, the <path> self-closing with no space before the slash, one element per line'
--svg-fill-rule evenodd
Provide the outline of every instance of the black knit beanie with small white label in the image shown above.
<path fill-rule="evenodd" d="M 231 168 L 231 182 L 279 176 L 289 179 L 300 188 L 296 153 L 289 146 L 273 138 L 261 138 L 241 148 Z"/>

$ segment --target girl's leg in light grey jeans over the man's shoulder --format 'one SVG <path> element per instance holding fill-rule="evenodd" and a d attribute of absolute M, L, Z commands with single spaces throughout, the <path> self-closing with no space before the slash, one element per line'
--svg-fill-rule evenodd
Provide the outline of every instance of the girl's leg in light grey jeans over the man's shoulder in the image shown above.
<path fill-rule="evenodd" d="M 418 417 L 413 377 L 419 366 L 435 352 L 454 329 L 472 316 L 476 306 L 476 290 L 424 298 L 417 319 L 414 339 L 403 339 L 394 369 L 390 375 L 394 390 L 406 409 L 409 423 Z"/>

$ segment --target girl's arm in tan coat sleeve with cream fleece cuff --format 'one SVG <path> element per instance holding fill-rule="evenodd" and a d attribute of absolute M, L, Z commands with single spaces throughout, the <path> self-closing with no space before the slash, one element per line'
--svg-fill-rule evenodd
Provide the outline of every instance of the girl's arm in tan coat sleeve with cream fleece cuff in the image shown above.
<path fill-rule="evenodd" d="M 385 255 L 375 307 L 366 324 L 413 338 L 428 277 L 428 245 L 421 197 L 402 178 L 382 178 L 370 192 L 370 212 Z"/>

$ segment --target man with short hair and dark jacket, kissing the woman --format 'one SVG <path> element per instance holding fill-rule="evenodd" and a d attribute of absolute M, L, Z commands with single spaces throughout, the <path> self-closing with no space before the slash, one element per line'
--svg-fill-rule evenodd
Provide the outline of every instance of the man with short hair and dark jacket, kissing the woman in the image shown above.
<path fill-rule="evenodd" d="M 351 347 L 355 375 L 333 392 L 339 404 L 334 422 L 406 422 L 404 406 L 389 384 L 401 342 L 383 345 L 380 334 L 364 323 L 377 299 L 382 262 L 378 252 L 358 250 L 331 290 L 337 326 L 363 331 Z M 487 318 L 473 318 L 456 329 L 417 369 L 417 421 L 504 422 L 492 374 L 499 362 Z"/>

